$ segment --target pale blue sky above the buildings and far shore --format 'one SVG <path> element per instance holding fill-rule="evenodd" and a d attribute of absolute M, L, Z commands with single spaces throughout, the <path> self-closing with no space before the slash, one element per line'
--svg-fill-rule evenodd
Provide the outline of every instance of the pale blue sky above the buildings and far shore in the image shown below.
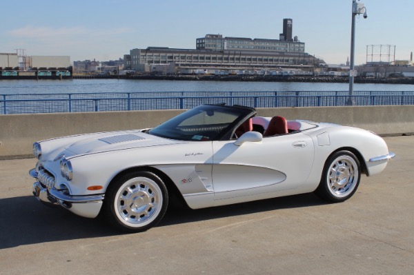
<path fill-rule="evenodd" d="M 414 1 L 360 2 L 368 18 L 355 17 L 355 65 L 366 63 L 367 45 L 391 45 L 391 54 L 395 45 L 396 60 L 410 59 Z M 290 18 L 308 54 L 339 64 L 351 52 L 351 8 L 352 0 L 0 0 L 0 52 L 109 61 L 133 48 L 194 49 L 206 34 L 279 39 Z"/>

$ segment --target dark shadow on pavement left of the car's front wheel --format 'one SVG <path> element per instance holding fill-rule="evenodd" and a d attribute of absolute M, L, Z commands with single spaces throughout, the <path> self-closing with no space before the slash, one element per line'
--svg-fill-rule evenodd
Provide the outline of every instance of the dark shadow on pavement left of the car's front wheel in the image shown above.
<path fill-rule="evenodd" d="M 48 207 L 34 196 L 0 199 L 0 249 L 117 234 L 104 221 Z"/>

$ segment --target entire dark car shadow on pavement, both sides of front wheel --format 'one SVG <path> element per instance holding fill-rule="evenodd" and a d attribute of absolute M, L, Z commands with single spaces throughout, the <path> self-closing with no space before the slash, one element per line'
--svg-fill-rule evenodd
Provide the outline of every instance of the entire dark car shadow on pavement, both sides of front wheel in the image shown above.
<path fill-rule="evenodd" d="M 157 227 L 324 203 L 313 194 L 302 194 L 201 210 L 169 209 Z M 47 207 L 33 196 L 0 199 L 0 249 L 120 234 L 126 233 L 103 219 L 82 218 L 62 207 Z"/>

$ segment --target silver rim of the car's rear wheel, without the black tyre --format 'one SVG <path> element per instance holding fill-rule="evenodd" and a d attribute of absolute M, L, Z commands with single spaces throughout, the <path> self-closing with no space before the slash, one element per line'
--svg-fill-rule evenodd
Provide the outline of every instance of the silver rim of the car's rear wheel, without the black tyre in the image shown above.
<path fill-rule="evenodd" d="M 332 162 L 328 173 L 329 190 L 334 196 L 350 194 L 359 179 L 357 163 L 348 155 L 339 156 Z"/>

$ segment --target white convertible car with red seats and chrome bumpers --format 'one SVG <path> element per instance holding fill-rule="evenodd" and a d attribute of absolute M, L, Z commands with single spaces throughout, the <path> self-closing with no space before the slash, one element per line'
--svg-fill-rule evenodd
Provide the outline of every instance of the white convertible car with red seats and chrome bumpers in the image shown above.
<path fill-rule="evenodd" d="M 171 196 L 193 209 L 306 192 L 345 201 L 361 174 L 395 156 L 373 132 L 238 105 L 200 105 L 152 129 L 39 141 L 33 151 L 39 201 L 101 213 L 127 232 L 156 225 Z"/>

